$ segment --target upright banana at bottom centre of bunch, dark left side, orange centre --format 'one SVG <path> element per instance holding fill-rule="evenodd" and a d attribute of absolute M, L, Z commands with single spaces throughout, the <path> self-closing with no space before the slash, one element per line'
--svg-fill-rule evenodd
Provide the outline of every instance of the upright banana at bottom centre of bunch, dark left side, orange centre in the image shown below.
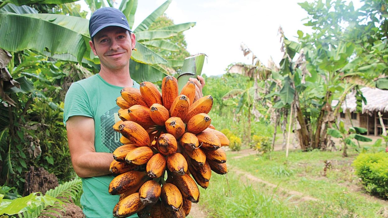
<path fill-rule="evenodd" d="M 162 204 L 170 211 L 178 211 L 183 202 L 179 189 L 171 183 L 162 185 L 160 199 L 162 200 Z"/>

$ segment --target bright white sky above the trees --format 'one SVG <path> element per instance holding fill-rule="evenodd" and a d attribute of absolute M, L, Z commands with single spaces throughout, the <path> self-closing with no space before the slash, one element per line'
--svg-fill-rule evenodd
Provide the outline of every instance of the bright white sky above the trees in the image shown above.
<path fill-rule="evenodd" d="M 116 0 L 120 5 L 121 0 Z M 139 0 L 134 27 L 163 4 L 165 0 Z M 297 41 L 296 31 L 311 32 L 304 26 L 307 12 L 297 3 L 304 0 L 173 0 L 166 10 L 175 24 L 196 22 L 185 31 L 187 50 L 190 54 L 205 53 L 202 73 L 219 75 L 232 62 L 251 63 L 251 56 L 244 57 L 240 43 L 244 42 L 253 53 L 267 64 L 272 56 L 279 64 L 282 53 L 277 30 L 282 26 L 286 37 Z M 308 2 L 312 2 L 308 0 Z M 360 5 L 356 0 L 355 6 Z M 83 10 L 87 5 L 80 3 Z M 118 7 L 116 5 L 116 7 Z"/>

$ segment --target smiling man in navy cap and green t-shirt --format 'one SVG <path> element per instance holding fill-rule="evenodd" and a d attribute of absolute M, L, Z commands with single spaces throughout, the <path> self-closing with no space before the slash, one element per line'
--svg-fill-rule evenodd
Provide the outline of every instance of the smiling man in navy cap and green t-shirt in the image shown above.
<path fill-rule="evenodd" d="M 119 198 L 108 193 L 114 178 L 109 173 L 112 152 L 121 145 L 120 134 L 112 128 L 119 119 L 114 99 L 123 87 L 139 88 L 129 72 L 136 41 L 124 14 L 110 7 L 93 13 L 89 33 L 89 44 L 100 59 L 101 70 L 71 85 L 65 98 L 64 123 L 73 168 L 82 178 L 83 212 L 87 218 L 109 218 Z M 202 97 L 205 85 L 202 77 L 198 79 L 192 79 L 196 99 Z"/>

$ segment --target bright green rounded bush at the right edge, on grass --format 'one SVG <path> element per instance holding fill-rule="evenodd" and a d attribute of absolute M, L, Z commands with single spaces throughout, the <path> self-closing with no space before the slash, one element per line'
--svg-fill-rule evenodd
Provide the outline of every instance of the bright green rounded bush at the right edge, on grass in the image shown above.
<path fill-rule="evenodd" d="M 360 154 L 353 166 L 367 192 L 388 198 L 388 153 Z"/>

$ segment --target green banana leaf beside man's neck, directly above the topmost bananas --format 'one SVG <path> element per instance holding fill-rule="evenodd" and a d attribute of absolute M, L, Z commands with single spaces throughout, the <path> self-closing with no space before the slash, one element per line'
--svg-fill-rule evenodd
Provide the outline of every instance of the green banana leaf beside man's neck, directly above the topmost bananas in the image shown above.
<path fill-rule="evenodd" d="M 163 73 L 157 66 L 152 66 L 148 64 L 142 64 L 139 62 L 135 62 L 130 60 L 129 62 L 129 71 L 131 74 L 131 78 L 138 83 L 143 81 L 150 81 L 152 83 L 163 80 L 163 77 L 167 76 L 167 74 Z"/>

